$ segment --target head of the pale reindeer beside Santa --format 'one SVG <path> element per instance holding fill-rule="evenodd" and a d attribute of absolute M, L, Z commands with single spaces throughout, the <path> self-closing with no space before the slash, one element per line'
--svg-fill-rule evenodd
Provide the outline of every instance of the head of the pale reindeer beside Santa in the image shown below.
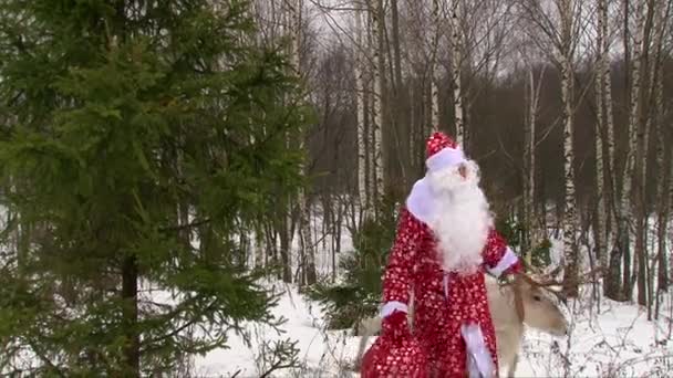
<path fill-rule="evenodd" d="M 526 274 L 521 274 L 515 283 L 518 285 L 524 323 L 545 333 L 565 336 L 568 334 L 568 322 L 559 303 L 566 303 L 566 300 L 560 292 L 551 288 L 558 284 L 552 280 L 535 280 Z"/>

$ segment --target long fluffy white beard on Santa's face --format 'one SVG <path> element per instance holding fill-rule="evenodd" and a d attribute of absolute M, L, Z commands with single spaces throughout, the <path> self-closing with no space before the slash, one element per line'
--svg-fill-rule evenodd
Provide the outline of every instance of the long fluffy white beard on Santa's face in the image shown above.
<path fill-rule="evenodd" d="M 460 177 L 457 166 L 427 175 L 438 214 L 429 225 L 437 239 L 442 267 L 472 274 L 482 264 L 493 217 L 479 188 L 477 165 L 467 161 L 465 166 L 466 178 Z"/>

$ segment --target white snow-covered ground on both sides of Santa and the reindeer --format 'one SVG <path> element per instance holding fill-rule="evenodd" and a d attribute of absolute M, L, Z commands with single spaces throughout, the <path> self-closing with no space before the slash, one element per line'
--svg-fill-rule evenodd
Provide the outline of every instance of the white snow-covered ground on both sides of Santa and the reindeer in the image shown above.
<path fill-rule="evenodd" d="M 350 250 L 344 233 L 343 251 Z M 560 260 L 558 241 L 552 261 Z M 331 270 L 331 258 L 319 253 L 322 273 Z M 232 337 L 229 349 L 214 350 L 195 359 L 197 377 L 260 377 L 269 368 L 268 343 L 290 338 L 299 349 L 298 369 L 278 370 L 271 377 L 359 377 L 352 370 L 360 337 L 350 330 L 324 330 L 317 304 L 302 297 L 297 287 L 273 284 L 283 291 L 273 309 L 288 319 L 284 334 L 250 325 L 250 344 Z M 552 337 L 528 329 L 516 377 L 673 377 L 673 305 L 663 298 L 658 321 L 649 322 L 646 309 L 630 303 L 601 300 L 600 312 L 591 300 L 591 287 L 566 308 L 571 323 L 569 337 Z M 374 342 L 372 337 L 370 344 Z M 267 346 L 265 346 L 267 345 Z M 268 359 L 268 358 L 267 358 Z"/>

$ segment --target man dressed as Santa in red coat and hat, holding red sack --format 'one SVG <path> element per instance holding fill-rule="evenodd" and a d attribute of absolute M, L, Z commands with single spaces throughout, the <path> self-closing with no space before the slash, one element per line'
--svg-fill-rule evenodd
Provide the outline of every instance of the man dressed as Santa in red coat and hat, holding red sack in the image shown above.
<path fill-rule="evenodd" d="M 401 211 L 383 277 L 382 332 L 364 355 L 362 377 L 497 377 L 484 273 L 521 265 L 494 229 L 478 166 L 442 133 L 426 153 L 427 172 Z"/>

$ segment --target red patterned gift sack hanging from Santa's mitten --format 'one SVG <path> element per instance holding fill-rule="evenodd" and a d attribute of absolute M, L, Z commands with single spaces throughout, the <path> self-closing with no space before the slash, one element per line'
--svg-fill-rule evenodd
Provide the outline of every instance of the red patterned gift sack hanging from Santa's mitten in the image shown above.
<path fill-rule="evenodd" d="M 427 358 L 408 330 L 406 313 L 394 312 L 382 322 L 381 336 L 362 358 L 362 378 L 425 378 Z"/>

